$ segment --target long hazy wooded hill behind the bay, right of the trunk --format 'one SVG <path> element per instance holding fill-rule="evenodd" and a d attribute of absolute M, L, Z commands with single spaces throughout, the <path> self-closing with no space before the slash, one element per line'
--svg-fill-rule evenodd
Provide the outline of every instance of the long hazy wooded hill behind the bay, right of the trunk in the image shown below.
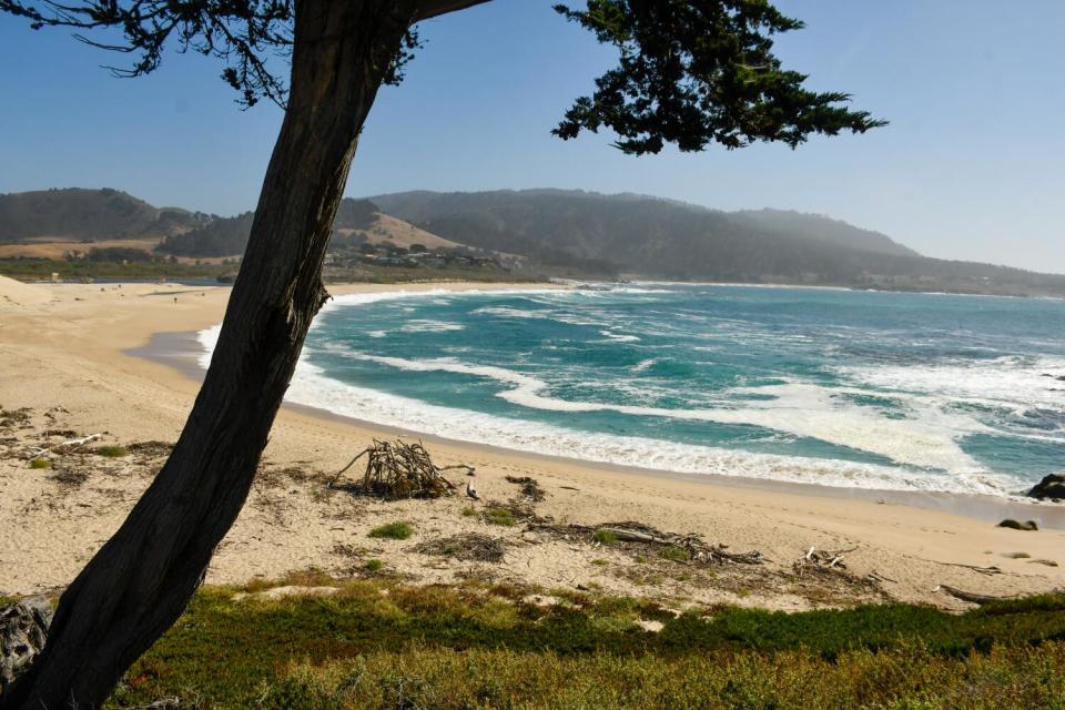
<path fill-rule="evenodd" d="M 655 197 L 550 190 L 372 200 L 445 239 L 591 276 L 1065 294 L 1065 276 L 926 258 L 885 235 L 793 212 L 726 213 Z"/>

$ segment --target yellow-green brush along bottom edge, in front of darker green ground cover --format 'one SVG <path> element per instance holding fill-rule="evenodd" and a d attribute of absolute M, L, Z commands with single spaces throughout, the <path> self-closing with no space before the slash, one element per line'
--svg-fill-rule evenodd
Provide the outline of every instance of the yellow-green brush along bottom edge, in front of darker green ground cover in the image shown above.
<path fill-rule="evenodd" d="M 962 661 L 919 646 L 829 662 L 809 652 L 560 657 L 415 646 L 316 666 L 265 687 L 285 710 L 1061 710 L 1065 646 Z"/>

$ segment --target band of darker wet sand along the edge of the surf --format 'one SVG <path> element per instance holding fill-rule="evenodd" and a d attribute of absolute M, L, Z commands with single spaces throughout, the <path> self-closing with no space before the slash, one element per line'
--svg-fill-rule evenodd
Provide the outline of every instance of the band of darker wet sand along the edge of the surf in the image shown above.
<path fill-rule="evenodd" d="M 205 371 L 199 359 L 204 349 L 200 343 L 197 331 L 179 333 L 153 333 L 152 339 L 145 346 L 129 351 L 135 357 L 156 362 L 181 372 L 196 384 L 203 382 Z M 1047 529 L 1065 529 L 1065 506 L 1046 504 L 1036 499 L 1021 497 L 998 498 L 980 494 L 963 494 L 947 491 L 891 490 L 878 488 L 860 488 L 845 486 L 829 486 L 822 484 L 793 483 L 773 478 L 752 478 L 748 476 L 728 476 L 723 474 L 689 474 L 661 468 L 642 466 L 625 466 L 609 462 L 597 462 L 585 458 L 552 456 L 538 454 L 493 444 L 481 444 L 467 439 L 456 439 L 425 432 L 417 432 L 405 427 L 381 424 L 372 419 L 338 414 L 325 407 L 300 404 L 295 402 L 282 403 L 282 408 L 298 412 L 312 417 L 349 424 L 361 428 L 381 432 L 384 436 L 417 438 L 429 444 L 446 444 L 454 447 L 469 447 L 478 452 L 494 453 L 518 458 L 530 458 L 541 462 L 554 462 L 571 466 L 596 468 L 606 473 L 628 476 L 652 476 L 679 481 L 693 483 L 707 486 L 736 486 L 750 490 L 771 490 L 799 496 L 833 498 L 838 500 L 865 500 L 879 505 L 901 505 L 949 513 L 977 520 L 997 523 L 1003 518 L 1035 520 Z"/>

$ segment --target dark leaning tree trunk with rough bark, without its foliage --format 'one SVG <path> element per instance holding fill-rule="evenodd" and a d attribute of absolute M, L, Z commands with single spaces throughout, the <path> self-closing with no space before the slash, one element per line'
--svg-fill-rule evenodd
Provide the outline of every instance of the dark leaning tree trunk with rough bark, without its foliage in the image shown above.
<path fill-rule="evenodd" d="M 311 320 L 358 133 L 406 0 L 298 0 L 290 103 L 217 347 L 173 454 L 62 595 L 0 710 L 95 708 L 184 610 L 247 497 Z"/>

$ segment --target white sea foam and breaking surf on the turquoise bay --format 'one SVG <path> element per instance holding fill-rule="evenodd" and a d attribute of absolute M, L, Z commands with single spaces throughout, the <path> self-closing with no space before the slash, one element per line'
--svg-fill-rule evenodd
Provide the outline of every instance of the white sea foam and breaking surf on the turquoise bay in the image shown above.
<path fill-rule="evenodd" d="M 876 357 L 866 358 L 870 362 L 849 362 L 854 358 L 851 345 L 865 345 L 862 338 L 866 337 L 866 334 L 862 327 L 833 323 L 834 339 L 824 339 L 816 332 L 811 335 L 802 329 L 767 329 L 746 317 L 719 312 L 709 317 L 698 311 L 678 311 L 672 314 L 676 317 L 672 322 L 648 320 L 640 323 L 639 327 L 630 328 L 630 316 L 626 312 L 610 310 L 610 296 L 649 300 L 658 298 L 659 292 L 670 293 L 668 288 L 645 291 L 648 292 L 647 295 L 640 293 L 639 287 L 629 287 L 627 293 L 621 293 L 621 288 L 572 292 L 521 288 L 491 292 L 500 300 L 509 298 L 499 304 L 493 304 L 491 301 L 486 304 L 484 296 L 488 295 L 487 292 L 459 294 L 443 290 L 341 296 L 333 300 L 324 311 L 328 313 L 343 307 L 396 300 L 409 300 L 409 305 L 404 304 L 403 307 L 407 314 L 399 313 L 400 308 L 396 308 L 389 321 L 382 320 L 379 315 L 387 312 L 377 312 L 378 320 L 373 327 L 378 329 L 367 329 L 371 341 L 363 341 L 365 347 L 353 348 L 343 337 L 335 342 L 331 333 L 327 338 L 311 338 L 308 343 L 312 345 L 307 354 L 312 359 L 316 353 L 327 353 L 331 357 L 364 361 L 399 371 L 450 373 L 479 378 L 495 383 L 495 396 L 517 407 L 517 413 L 521 409 L 529 410 L 530 414 L 537 410 L 578 414 L 605 412 L 635 418 L 747 425 L 764 429 L 762 439 L 777 442 L 784 447 L 792 440 L 814 439 L 875 456 L 868 460 L 886 459 L 893 464 L 741 450 L 641 435 L 584 432 L 571 429 L 568 425 L 552 424 L 551 417 L 546 415 L 518 418 L 435 405 L 343 382 L 308 362 L 307 357 L 297 366 L 287 399 L 413 432 L 623 466 L 871 489 L 992 495 L 1016 491 L 1021 481 L 1012 475 L 990 471 L 963 448 L 966 437 L 1002 434 L 1001 426 L 996 429 L 986 424 L 990 419 L 980 407 L 988 410 L 1012 407 L 1018 417 L 1032 407 L 1044 407 L 1048 412 L 1059 412 L 1062 408 L 1061 383 L 1044 375 L 1056 376 L 1065 373 L 1065 357 L 996 358 L 993 349 L 986 348 L 991 357 L 984 359 L 977 354 L 968 361 L 953 362 L 945 358 L 926 364 L 896 364 L 890 359 L 876 362 Z M 625 368 L 629 379 L 615 376 L 612 381 L 605 378 L 595 383 L 580 383 L 582 372 L 585 375 L 596 372 L 587 367 L 584 371 L 556 369 L 550 375 L 523 372 L 528 369 L 523 366 L 526 362 L 542 369 L 535 354 L 530 355 L 534 359 L 529 361 L 524 356 L 516 356 L 507 366 L 468 362 L 465 359 L 467 356 L 476 359 L 477 347 L 476 342 L 469 339 L 470 336 L 460 335 L 460 329 L 465 327 L 462 318 L 434 318 L 432 307 L 426 310 L 418 305 L 443 306 L 466 296 L 479 297 L 475 303 L 475 306 L 479 307 L 467 312 L 467 315 L 474 318 L 556 322 L 559 327 L 586 328 L 586 344 L 596 343 L 595 337 L 600 336 L 607 341 L 598 342 L 616 344 L 610 349 L 619 351 L 621 354 L 618 356 L 626 356 L 626 351 L 641 355 L 630 361 L 632 364 Z M 418 298 L 422 301 L 415 301 Z M 454 313 L 454 308 L 446 312 Z M 641 313 L 655 312 L 645 306 Z M 689 332 L 690 328 L 682 325 L 686 322 L 693 324 L 691 328 L 706 331 Z M 322 323 L 323 320 L 320 318 L 313 327 L 316 329 Z M 699 325 L 700 323 L 706 325 Z M 387 326 L 388 331 L 379 329 L 382 325 Z M 454 332 L 459 336 L 447 347 L 436 349 L 436 353 L 448 355 L 447 357 L 400 357 L 366 352 L 375 349 L 376 346 L 368 345 L 374 342 L 375 336 L 386 333 L 404 333 L 407 337 L 415 337 L 420 333 L 434 332 Z M 210 363 L 211 349 L 217 334 L 217 326 L 200 334 L 200 342 L 205 351 L 201 357 L 204 367 Z M 640 342 L 641 336 L 648 341 L 646 345 Z M 900 332 L 897 336 L 891 335 L 900 339 L 905 336 L 905 332 Z M 666 387 L 669 381 L 656 379 L 668 377 L 667 366 L 663 365 L 662 369 L 653 367 L 660 362 L 668 362 L 669 367 L 676 365 L 672 362 L 674 358 L 666 357 L 666 351 L 658 349 L 660 346 L 655 344 L 658 342 L 656 338 L 669 337 L 686 337 L 686 349 L 714 353 L 716 358 L 717 354 L 732 355 L 737 344 L 741 347 L 755 346 L 769 351 L 778 345 L 814 348 L 824 354 L 825 362 L 835 372 L 836 378 L 812 381 L 778 374 L 769 376 L 767 384 L 767 377 L 762 373 L 762 382 L 759 382 L 758 386 L 744 386 L 747 377 L 741 376 L 732 387 L 692 397 L 691 402 L 697 403 L 697 406 L 651 406 L 659 394 L 669 393 Z M 378 338 L 376 342 L 386 346 L 390 341 Z M 869 343 L 873 349 L 882 347 L 875 341 Z M 475 346 L 473 352 L 470 345 Z M 409 351 L 409 345 L 400 347 Z M 558 352 L 557 342 L 545 342 L 540 347 L 545 353 Z M 566 347 L 572 349 L 571 345 L 567 344 Z M 974 346 L 971 349 L 976 348 L 977 346 Z M 387 347 L 385 352 L 388 352 Z M 395 346 L 393 352 L 397 352 Z M 398 352 L 405 354 L 403 351 Z M 452 356 L 459 354 L 463 359 Z M 689 364 L 686 366 L 699 364 L 698 358 L 687 359 Z M 653 373 L 646 372 L 652 367 Z M 755 374 L 757 371 L 752 373 Z M 559 385 L 569 386 L 569 389 L 564 387 L 565 396 L 555 394 L 562 392 L 558 389 Z M 670 386 L 676 387 L 676 384 Z M 612 387 L 622 394 L 618 402 L 600 402 L 598 396 L 574 395 L 574 392 L 598 394 L 597 387 Z M 647 396 L 642 397 L 643 394 Z M 640 398 L 646 398 L 649 406 L 632 404 Z M 962 406 L 966 404 L 978 406 L 967 409 Z M 555 419 L 558 420 L 558 417 Z M 1049 420 L 1053 422 L 1053 417 Z M 998 426 L 1000 423 L 995 424 Z M 1022 439 L 1042 438 L 1055 445 L 1063 440 L 1062 430 L 1010 434 Z"/>

